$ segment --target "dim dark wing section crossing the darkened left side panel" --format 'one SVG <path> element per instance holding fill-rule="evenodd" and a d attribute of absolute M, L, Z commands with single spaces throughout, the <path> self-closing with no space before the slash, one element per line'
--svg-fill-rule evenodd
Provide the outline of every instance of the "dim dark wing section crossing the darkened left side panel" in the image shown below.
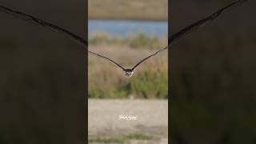
<path fill-rule="evenodd" d="M 69 30 L 65 30 L 62 27 L 56 26 L 54 24 L 51 24 L 50 22 L 43 21 L 42 19 L 35 18 L 34 16 L 30 14 L 25 14 L 17 10 L 12 10 L 9 7 L 1 6 L 0 5 L 0 11 L 6 12 L 6 14 L 11 14 L 16 18 L 21 18 L 27 22 L 31 22 L 34 24 L 37 24 L 39 26 L 44 26 L 50 30 L 53 30 L 55 32 L 61 32 L 62 34 L 66 34 L 70 38 L 72 38 L 74 41 L 78 42 L 79 44 L 82 44 L 82 46 L 88 46 L 88 42 L 86 42 L 85 39 L 79 37 L 76 34 L 71 33 Z"/>

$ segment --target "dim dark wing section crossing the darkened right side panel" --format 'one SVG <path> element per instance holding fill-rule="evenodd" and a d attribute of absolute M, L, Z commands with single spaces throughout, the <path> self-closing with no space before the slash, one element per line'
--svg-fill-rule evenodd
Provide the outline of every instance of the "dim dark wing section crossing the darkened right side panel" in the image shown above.
<path fill-rule="evenodd" d="M 174 44 L 174 42 L 177 42 L 178 39 L 182 38 L 186 34 L 189 34 L 190 32 L 194 30 L 200 29 L 202 26 L 204 26 L 207 22 L 213 21 L 215 18 L 218 18 L 219 15 L 221 15 L 223 12 L 226 12 L 227 10 L 230 10 L 231 8 L 234 8 L 234 6 L 239 6 L 244 2 L 247 2 L 248 0 L 237 0 L 235 2 L 230 3 L 228 6 L 223 7 L 222 9 L 216 11 L 214 14 L 211 14 L 210 16 L 203 18 L 202 20 L 199 20 L 198 22 L 194 22 L 190 26 L 186 26 L 184 29 L 178 31 L 178 33 L 171 35 L 170 38 L 168 38 L 168 45 L 169 47 Z"/>

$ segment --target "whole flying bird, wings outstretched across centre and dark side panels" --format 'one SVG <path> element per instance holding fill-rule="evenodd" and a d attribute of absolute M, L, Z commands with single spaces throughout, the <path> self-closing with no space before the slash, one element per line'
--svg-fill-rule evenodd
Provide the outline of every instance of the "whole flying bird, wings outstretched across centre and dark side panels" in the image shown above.
<path fill-rule="evenodd" d="M 210 16 L 203 18 L 202 20 L 199 20 L 197 22 L 194 22 L 193 24 L 191 24 L 190 26 L 186 26 L 184 29 L 178 31 L 178 33 L 173 34 L 170 36 L 170 38 L 168 38 L 168 46 L 162 48 L 161 50 L 156 51 L 154 54 L 150 54 L 149 56 L 147 56 L 146 58 L 143 58 L 140 62 L 138 62 L 136 65 L 134 65 L 132 68 L 130 69 L 126 69 L 123 66 L 121 66 L 120 64 L 118 64 L 118 62 L 114 62 L 114 60 L 107 58 L 106 56 L 103 56 L 101 54 L 97 54 L 94 53 L 90 50 L 88 50 L 89 54 L 94 54 L 98 57 L 101 58 L 105 58 L 106 60 L 114 63 L 116 66 L 118 66 L 119 68 L 121 68 L 124 72 L 125 75 L 128 77 L 131 77 L 134 74 L 134 70 L 140 65 L 142 64 L 142 62 L 146 62 L 147 59 L 153 57 L 154 55 L 158 54 L 159 52 L 161 52 L 162 50 L 167 50 L 168 48 L 170 48 L 170 46 L 172 46 L 174 44 L 174 42 L 178 42 L 178 40 L 180 38 L 182 38 L 183 36 L 185 36 L 186 34 L 189 34 L 190 32 L 194 31 L 194 30 L 198 30 L 200 28 L 202 28 L 202 26 L 204 26 L 207 22 L 211 22 L 213 21 L 215 18 L 218 18 L 218 16 L 220 16 L 223 12 L 230 10 L 231 8 L 235 7 L 235 6 L 239 6 L 244 2 L 247 2 L 248 0 L 237 0 L 235 2 L 230 3 L 228 6 L 223 7 L 222 9 L 216 11 L 214 14 L 211 14 Z M 69 30 L 65 30 L 60 26 L 56 26 L 54 24 L 51 24 L 50 22 L 46 22 L 43 21 L 42 19 L 39 18 L 35 18 L 32 15 L 29 14 L 25 14 L 22 12 L 19 12 L 17 10 L 12 10 L 9 7 L 6 6 L 0 6 L 0 10 L 3 12 L 6 12 L 7 14 L 11 14 L 17 18 L 21 18 L 23 20 L 26 20 L 27 22 L 32 22 L 34 24 L 40 25 L 40 26 L 44 26 L 50 30 L 53 30 L 55 32 L 60 32 L 62 34 L 66 34 L 67 36 L 69 36 L 70 38 L 72 38 L 75 42 L 78 42 L 79 44 L 82 44 L 82 46 L 88 46 L 88 42 L 86 42 L 85 39 L 79 37 L 76 34 L 71 33 Z"/>

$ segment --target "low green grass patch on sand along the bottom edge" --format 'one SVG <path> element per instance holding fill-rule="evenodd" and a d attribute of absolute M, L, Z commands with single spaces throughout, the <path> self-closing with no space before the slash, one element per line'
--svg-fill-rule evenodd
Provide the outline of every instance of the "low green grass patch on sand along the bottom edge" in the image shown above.
<path fill-rule="evenodd" d="M 158 141 L 160 138 L 154 137 L 147 134 L 128 134 L 120 137 L 108 138 L 108 137 L 92 137 L 89 138 L 89 142 L 102 142 L 102 143 L 130 143 L 130 140 L 141 140 L 141 141 Z"/>

